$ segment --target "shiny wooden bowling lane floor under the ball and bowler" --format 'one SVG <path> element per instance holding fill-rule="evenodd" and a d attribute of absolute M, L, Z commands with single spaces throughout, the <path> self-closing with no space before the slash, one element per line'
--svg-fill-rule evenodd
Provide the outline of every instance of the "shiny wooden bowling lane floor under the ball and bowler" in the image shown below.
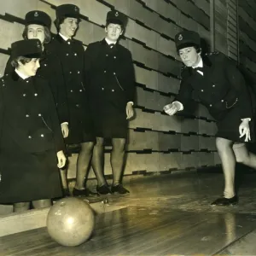
<path fill-rule="evenodd" d="M 125 208 L 98 214 L 79 247 L 62 247 L 41 228 L 2 237 L 0 255 L 256 255 L 256 173 L 236 177 L 234 207 L 210 206 L 222 194 L 221 173 L 130 178 L 130 195 L 102 197 L 105 207 Z"/>

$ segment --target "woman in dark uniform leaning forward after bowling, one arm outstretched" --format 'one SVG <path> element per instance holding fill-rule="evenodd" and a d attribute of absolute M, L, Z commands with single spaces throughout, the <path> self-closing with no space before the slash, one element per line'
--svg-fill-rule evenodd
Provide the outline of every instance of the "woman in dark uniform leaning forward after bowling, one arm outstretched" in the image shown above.
<path fill-rule="evenodd" d="M 223 54 L 201 56 L 201 38 L 197 32 L 184 31 L 175 37 L 177 53 L 183 64 L 182 82 L 176 100 L 167 105 L 172 115 L 187 108 L 191 99 L 201 102 L 216 119 L 216 145 L 224 171 L 224 197 L 214 206 L 237 203 L 234 189 L 236 161 L 256 168 L 256 155 L 247 151 L 254 140 L 253 107 L 247 85 L 236 66 Z"/>

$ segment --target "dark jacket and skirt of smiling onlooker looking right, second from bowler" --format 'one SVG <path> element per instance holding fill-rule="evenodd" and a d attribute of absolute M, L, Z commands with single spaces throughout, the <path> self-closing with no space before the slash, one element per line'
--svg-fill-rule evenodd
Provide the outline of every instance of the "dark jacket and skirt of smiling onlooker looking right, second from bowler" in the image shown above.
<path fill-rule="evenodd" d="M 92 122 L 84 86 L 84 46 L 76 39 L 65 41 L 59 34 L 52 38 L 49 51 L 61 61 L 67 96 L 69 136 L 67 144 L 93 142 Z M 61 102 L 59 102 L 61 104 Z"/>

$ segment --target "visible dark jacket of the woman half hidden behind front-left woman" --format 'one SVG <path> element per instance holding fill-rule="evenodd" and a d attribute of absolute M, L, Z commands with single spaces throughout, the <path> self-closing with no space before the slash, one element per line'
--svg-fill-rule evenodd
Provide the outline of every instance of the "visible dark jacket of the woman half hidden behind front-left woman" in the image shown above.
<path fill-rule="evenodd" d="M 14 71 L 15 67 L 11 66 L 11 61 L 9 59 L 4 73 L 13 73 Z M 60 122 L 67 122 L 67 95 L 65 91 L 61 61 L 57 55 L 49 49 L 49 44 L 44 45 L 44 57 L 40 60 L 40 67 L 38 68 L 37 76 L 48 80 L 50 90 L 52 91 L 55 99 Z"/>

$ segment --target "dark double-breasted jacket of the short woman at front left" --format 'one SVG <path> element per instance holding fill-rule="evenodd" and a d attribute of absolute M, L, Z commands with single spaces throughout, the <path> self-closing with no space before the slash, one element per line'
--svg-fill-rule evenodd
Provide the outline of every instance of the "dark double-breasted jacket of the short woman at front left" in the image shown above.
<path fill-rule="evenodd" d="M 23 80 L 15 72 L 0 80 L 1 148 L 3 136 L 27 152 L 64 149 L 55 102 L 46 80 Z"/>

